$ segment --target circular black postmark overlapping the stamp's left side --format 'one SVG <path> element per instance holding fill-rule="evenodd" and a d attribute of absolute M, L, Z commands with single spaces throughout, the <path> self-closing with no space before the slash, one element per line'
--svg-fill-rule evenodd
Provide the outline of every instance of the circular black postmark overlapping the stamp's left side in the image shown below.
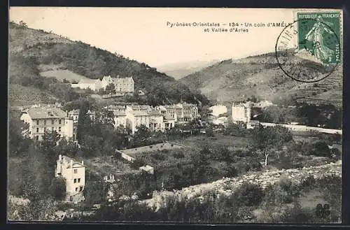
<path fill-rule="evenodd" d="M 339 64 L 340 43 L 337 33 L 321 17 L 300 19 L 281 31 L 275 53 L 277 64 L 288 77 L 318 82 Z"/>

